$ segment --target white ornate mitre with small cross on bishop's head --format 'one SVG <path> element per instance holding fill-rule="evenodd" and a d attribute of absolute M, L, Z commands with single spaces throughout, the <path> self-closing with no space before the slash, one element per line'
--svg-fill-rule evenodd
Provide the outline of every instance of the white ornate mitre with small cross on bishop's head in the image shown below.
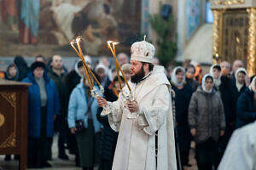
<path fill-rule="evenodd" d="M 155 48 L 154 45 L 144 41 L 134 42 L 131 45 L 131 60 L 153 63 Z"/>

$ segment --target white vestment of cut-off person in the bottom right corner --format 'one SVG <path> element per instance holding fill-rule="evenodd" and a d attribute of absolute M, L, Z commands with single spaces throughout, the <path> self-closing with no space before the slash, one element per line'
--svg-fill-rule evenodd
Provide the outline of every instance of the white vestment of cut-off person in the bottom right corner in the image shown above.
<path fill-rule="evenodd" d="M 256 170 L 256 122 L 236 129 L 218 170 Z"/>

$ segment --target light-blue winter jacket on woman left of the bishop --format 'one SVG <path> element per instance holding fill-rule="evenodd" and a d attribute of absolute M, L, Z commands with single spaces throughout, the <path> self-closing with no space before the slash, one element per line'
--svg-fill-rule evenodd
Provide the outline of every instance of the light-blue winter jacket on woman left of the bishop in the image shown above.
<path fill-rule="evenodd" d="M 96 113 L 98 109 L 97 100 L 90 96 L 91 105 L 90 105 L 90 113 L 92 117 L 92 122 L 94 126 L 94 132 L 100 132 L 100 128 L 102 124 L 98 122 L 96 119 Z M 85 95 L 85 88 L 83 82 L 80 82 L 76 88 L 73 89 L 73 92 L 70 95 L 69 103 L 68 103 L 68 116 L 67 122 L 68 127 L 75 127 L 75 121 L 84 120 L 84 127 L 88 127 L 88 114 L 85 113 L 88 110 L 87 97 Z"/>

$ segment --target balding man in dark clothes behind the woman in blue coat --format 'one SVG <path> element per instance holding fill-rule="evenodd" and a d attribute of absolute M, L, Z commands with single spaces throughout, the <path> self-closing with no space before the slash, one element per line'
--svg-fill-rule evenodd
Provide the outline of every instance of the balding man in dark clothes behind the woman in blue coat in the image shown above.
<path fill-rule="evenodd" d="M 58 147 L 59 158 L 68 160 L 68 156 L 65 153 L 65 143 L 67 143 L 67 105 L 68 94 L 67 86 L 65 83 L 66 72 L 63 69 L 63 63 L 61 55 L 54 55 L 51 59 L 50 68 L 48 71 L 49 77 L 55 82 L 55 86 L 58 90 L 61 102 L 60 115 L 56 119 L 56 128 L 59 131 Z"/>

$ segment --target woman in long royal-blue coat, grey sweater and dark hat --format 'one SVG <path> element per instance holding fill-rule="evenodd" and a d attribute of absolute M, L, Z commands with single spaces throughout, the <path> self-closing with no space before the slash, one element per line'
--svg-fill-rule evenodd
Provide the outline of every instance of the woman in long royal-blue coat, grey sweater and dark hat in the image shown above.
<path fill-rule="evenodd" d="M 28 167 L 51 167 L 46 161 L 46 150 L 54 135 L 54 119 L 60 111 L 60 100 L 55 82 L 44 69 L 44 63 L 34 62 L 22 81 L 32 83 L 28 88 Z"/>

